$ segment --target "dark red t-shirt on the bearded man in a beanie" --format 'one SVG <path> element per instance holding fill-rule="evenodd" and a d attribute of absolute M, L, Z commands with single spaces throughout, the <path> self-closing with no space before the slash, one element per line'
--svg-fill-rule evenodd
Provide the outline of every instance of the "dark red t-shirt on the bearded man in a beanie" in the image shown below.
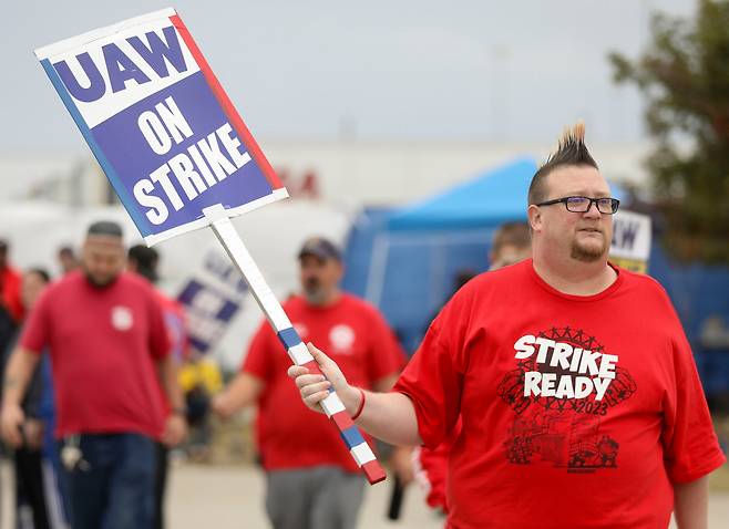
<path fill-rule="evenodd" d="M 122 273 L 96 289 L 81 272 L 64 276 L 41 294 L 20 343 L 33 352 L 50 349 L 57 437 L 162 434 L 154 360 L 170 344 L 156 294 L 144 279 Z"/>

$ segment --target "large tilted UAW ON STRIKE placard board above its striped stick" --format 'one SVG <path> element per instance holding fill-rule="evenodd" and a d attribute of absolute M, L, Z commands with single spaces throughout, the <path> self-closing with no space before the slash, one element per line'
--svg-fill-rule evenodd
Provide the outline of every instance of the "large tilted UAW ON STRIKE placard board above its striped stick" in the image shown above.
<path fill-rule="evenodd" d="M 287 196 L 174 9 L 35 55 L 148 245 Z"/>

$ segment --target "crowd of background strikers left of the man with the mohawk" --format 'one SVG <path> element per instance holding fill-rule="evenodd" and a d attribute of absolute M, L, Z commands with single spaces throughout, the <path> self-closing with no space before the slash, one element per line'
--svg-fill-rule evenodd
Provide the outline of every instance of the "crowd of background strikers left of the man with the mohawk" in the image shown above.
<path fill-rule="evenodd" d="M 206 449 L 209 412 L 227 419 L 248 405 L 258 408 L 271 526 L 356 525 L 364 481 L 336 429 L 297 401 L 265 322 L 224 388 L 211 359 L 189 346 L 182 305 L 154 288 L 157 251 L 126 250 L 117 224 L 92 224 L 79 256 L 61 248 L 57 278 L 20 272 L 8 243 L 0 250 L 0 426 L 18 528 L 165 527 L 171 448 L 189 427 L 188 448 Z M 301 294 L 285 303 L 297 331 L 326 343 L 366 387 L 388 391 L 407 356 L 383 317 L 339 289 L 340 249 L 310 238 L 298 263 Z M 386 452 L 410 481 L 410 447 Z"/>

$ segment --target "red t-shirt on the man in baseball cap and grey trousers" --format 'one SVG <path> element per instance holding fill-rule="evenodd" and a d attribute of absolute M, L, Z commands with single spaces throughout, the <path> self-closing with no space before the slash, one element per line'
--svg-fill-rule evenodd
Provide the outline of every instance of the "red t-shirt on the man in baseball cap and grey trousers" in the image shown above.
<path fill-rule="evenodd" d="M 341 369 L 350 384 L 372 387 L 396 375 L 405 357 L 383 318 L 364 301 L 342 293 L 326 308 L 302 298 L 284 304 L 304 342 L 312 342 Z M 358 471 L 339 432 L 324 414 L 311 412 L 286 371 L 291 362 L 284 345 L 264 322 L 254 336 L 242 371 L 265 383 L 258 403 L 258 449 L 267 470 L 337 465 Z"/>

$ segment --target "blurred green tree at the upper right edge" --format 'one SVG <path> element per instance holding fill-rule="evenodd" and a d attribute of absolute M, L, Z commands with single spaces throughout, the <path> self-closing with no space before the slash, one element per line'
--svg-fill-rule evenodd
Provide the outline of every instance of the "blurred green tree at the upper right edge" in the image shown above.
<path fill-rule="evenodd" d="M 699 0 L 692 20 L 654 14 L 636 61 L 612 53 L 615 81 L 647 100 L 647 166 L 665 242 L 684 260 L 729 263 L 729 1 Z"/>

